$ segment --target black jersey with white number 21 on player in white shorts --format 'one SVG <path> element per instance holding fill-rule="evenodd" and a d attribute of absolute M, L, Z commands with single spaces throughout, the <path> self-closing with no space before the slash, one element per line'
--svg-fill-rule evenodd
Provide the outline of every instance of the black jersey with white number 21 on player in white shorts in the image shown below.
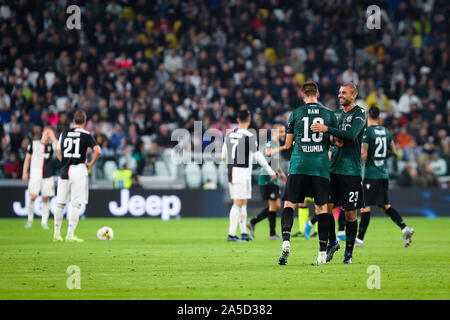
<path fill-rule="evenodd" d="M 58 149 L 61 150 L 61 179 L 69 179 L 70 166 L 85 163 L 87 148 L 97 145 L 89 131 L 75 128 L 64 131 L 59 136 Z"/>

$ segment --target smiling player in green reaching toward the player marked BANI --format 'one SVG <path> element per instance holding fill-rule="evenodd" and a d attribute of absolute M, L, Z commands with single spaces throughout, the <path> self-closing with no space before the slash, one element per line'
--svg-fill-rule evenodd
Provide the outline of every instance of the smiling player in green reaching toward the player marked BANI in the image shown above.
<path fill-rule="evenodd" d="M 352 263 L 353 247 L 358 229 L 356 210 L 364 207 L 361 179 L 361 142 L 366 127 L 366 112 L 355 104 L 358 90 L 353 83 L 345 83 L 339 89 L 339 103 L 344 107 L 338 119 L 338 126 L 321 123 L 311 125 L 313 132 L 329 133 L 342 139 L 331 157 L 330 184 L 331 196 L 328 208 L 330 216 L 330 237 L 327 247 L 327 261 L 333 258 L 340 245 L 336 239 L 335 221 L 332 209 L 341 206 L 345 211 L 346 245 L 344 264 Z M 339 141 L 340 143 L 341 141 Z"/>

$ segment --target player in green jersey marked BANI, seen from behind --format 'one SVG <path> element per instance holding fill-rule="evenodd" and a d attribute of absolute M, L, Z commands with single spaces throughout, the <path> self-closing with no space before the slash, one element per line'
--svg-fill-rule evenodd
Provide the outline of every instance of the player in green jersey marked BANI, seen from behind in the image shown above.
<path fill-rule="evenodd" d="M 289 175 L 283 195 L 284 209 L 281 214 L 283 245 L 278 259 L 279 265 L 285 265 L 290 254 L 290 236 L 294 222 L 294 210 L 297 203 L 305 197 L 314 197 L 318 215 L 319 254 L 317 264 L 326 263 L 329 218 L 327 203 L 330 194 L 330 145 L 329 133 L 313 133 L 312 123 L 322 123 L 335 127 L 334 114 L 317 102 L 319 90 L 317 84 L 308 81 L 302 86 L 304 105 L 292 111 L 289 117 L 285 147 L 292 152 Z M 294 144 L 295 143 L 295 144 Z"/>

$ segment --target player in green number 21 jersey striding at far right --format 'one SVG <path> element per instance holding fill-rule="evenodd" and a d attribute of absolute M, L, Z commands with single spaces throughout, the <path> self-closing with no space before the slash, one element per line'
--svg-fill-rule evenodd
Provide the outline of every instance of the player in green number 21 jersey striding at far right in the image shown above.
<path fill-rule="evenodd" d="M 380 125 L 380 109 L 372 106 L 367 118 L 368 127 L 363 136 L 361 159 L 364 166 L 364 199 L 366 207 L 361 209 L 358 237 L 355 246 L 364 246 L 364 235 L 370 221 L 370 206 L 377 205 L 391 217 L 402 230 L 404 246 L 412 241 L 414 229 L 403 222 L 400 214 L 391 207 L 388 198 L 389 172 L 386 158 L 396 153 L 394 141 L 389 131 Z"/>

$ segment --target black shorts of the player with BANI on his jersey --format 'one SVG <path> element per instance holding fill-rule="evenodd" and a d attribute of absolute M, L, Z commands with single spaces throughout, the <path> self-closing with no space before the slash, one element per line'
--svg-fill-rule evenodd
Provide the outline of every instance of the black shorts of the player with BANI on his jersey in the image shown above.
<path fill-rule="evenodd" d="M 330 180 L 306 174 L 290 174 L 286 182 L 283 200 L 302 203 L 305 197 L 314 198 L 314 203 L 324 205 L 330 196 Z"/>

